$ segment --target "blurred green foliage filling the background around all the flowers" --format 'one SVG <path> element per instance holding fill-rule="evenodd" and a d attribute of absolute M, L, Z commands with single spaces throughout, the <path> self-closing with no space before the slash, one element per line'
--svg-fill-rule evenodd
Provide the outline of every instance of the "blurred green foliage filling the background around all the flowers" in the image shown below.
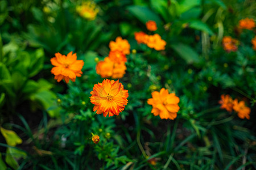
<path fill-rule="evenodd" d="M 83 2 L 0 1 L 0 169 L 256 169 L 255 29 L 238 29 L 256 19 L 255 1 L 98 0 L 92 20 L 76 11 Z M 148 20 L 166 50 L 137 44 Z M 103 117 L 90 91 L 117 36 L 136 49 L 119 80 L 129 103 Z M 239 41 L 237 52 L 223 49 L 224 36 Z M 57 83 L 49 59 L 71 51 L 85 62 L 82 77 Z M 174 121 L 146 103 L 163 87 L 180 97 Z M 221 110 L 222 94 L 245 100 L 250 120 Z"/>

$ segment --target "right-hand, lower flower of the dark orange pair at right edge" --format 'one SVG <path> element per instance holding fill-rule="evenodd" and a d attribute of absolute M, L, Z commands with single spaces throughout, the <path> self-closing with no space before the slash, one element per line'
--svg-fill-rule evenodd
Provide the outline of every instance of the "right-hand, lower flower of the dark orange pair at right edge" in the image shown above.
<path fill-rule="evenodd" d="M 250 112 L 251 112 L 251 109 L 249 107 L 246 107 L 245 106 L 245 101 L 240 101 L 238 103 L 238 100 L 235 99 L 233 101 L 233 109 L 234 111 L 237 112 L 237 116 L 240 117 L 240 118 L 247 118 L 248 120 L 250 119 Z"/>

